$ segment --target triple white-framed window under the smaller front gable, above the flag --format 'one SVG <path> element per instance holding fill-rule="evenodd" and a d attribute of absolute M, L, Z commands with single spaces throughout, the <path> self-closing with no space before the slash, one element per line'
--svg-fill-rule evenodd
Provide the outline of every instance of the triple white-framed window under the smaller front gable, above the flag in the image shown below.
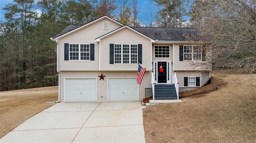
<path fill-rule="evenodd" d="M 115 64 L 137 64 L 138 44 L 114 44 Z"/>

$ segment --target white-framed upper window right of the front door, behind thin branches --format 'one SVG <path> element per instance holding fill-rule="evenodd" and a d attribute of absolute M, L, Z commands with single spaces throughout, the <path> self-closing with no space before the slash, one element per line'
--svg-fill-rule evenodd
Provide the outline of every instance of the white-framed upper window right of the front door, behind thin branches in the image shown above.
<path fill-rule="evenodd" d="M 184 61 L 202 61 L 202 46 L 184 45 Z"/>

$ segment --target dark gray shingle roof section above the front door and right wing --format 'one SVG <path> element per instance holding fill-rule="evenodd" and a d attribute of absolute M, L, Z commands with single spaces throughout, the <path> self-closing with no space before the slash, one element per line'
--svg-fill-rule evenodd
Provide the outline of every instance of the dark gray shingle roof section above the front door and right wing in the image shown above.
<path fill-rule="evenodd" d="M 192 28 L 132 27 L 140 33 L 158 41 L 185 41 L 184 34 L 196 33 Z"/>

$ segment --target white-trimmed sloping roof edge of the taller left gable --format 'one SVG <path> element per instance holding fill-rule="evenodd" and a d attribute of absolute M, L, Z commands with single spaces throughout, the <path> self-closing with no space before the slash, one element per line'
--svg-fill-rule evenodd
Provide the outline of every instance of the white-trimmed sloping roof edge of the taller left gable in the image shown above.
<path fill-rule="evenodd" d="M 66 35 L 69 35 L 69 34 L 75 32 L 75 31 L 80 30 L 80 29 L 82 29 L 84 27 L 87 27 L 87 26 L 92 25 L 92 24 L 94 24 L 96 22 L 99 22 L 100 20 L 103 20 L 104 18 L 107 18 L 108 20 L 111 20 L 112 22 L 115 22 L 116 24 L 119 24 L 119 25 L 123 26 L 123 24 L 121 24 L 120 22 L 118 22 L 118 21 L 116 21 L 116 20 L 114 20 L 114 19 L 112 19 L 112 18 L 110 18 L 108 16 L 102 16 L 102 17 L 100 17 L 100 18 L 98 18 L 96 20 L 93 20 L 92 22 L 89 22 L 87 24 L 84 24 L 82 26 L 80 26 L 80 25 L 69 25 L 64 30 L 62 30 L 60 33 L 58 33 L 56 36 L 54 36 L 53 39 L 60 39 L 60 38 L 62 38 L 64 36 L 66 36 Z"/>

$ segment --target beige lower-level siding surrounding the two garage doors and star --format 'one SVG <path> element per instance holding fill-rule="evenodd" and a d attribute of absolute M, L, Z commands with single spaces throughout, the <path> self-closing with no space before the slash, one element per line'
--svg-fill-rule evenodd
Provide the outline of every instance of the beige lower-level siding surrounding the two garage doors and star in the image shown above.
<path fill-rule="evenodd" d="M 104 80 L 99 80 L 101 73 Z M 137 71 L 114 72 L 114 71 L 62 71 L 60 72 L 60 101 L 64 101 L 64 78 L 96 78 L 97 101 L 108 101 L 108 78 L 136 78 Z M 139 86 L 139 100 L 145 97 L 145 88 L 150 88 L 150 72 L 146 71 L 141 85 Z M 102 96 L 102 97 L 101 97 Z"/>

